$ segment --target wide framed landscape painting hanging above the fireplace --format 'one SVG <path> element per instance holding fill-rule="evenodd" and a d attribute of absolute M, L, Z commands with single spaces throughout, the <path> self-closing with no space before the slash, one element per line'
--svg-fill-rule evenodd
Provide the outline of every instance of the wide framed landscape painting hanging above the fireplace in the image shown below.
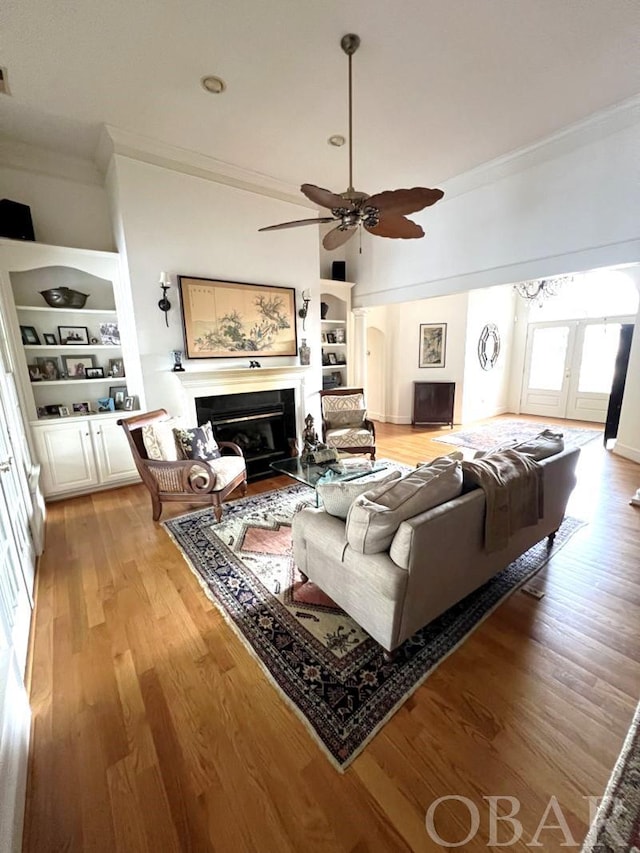
<path fill-rule="evenodd" d="M 297 355 L 295 289 L 178 276 L 188 358 Z"/>

